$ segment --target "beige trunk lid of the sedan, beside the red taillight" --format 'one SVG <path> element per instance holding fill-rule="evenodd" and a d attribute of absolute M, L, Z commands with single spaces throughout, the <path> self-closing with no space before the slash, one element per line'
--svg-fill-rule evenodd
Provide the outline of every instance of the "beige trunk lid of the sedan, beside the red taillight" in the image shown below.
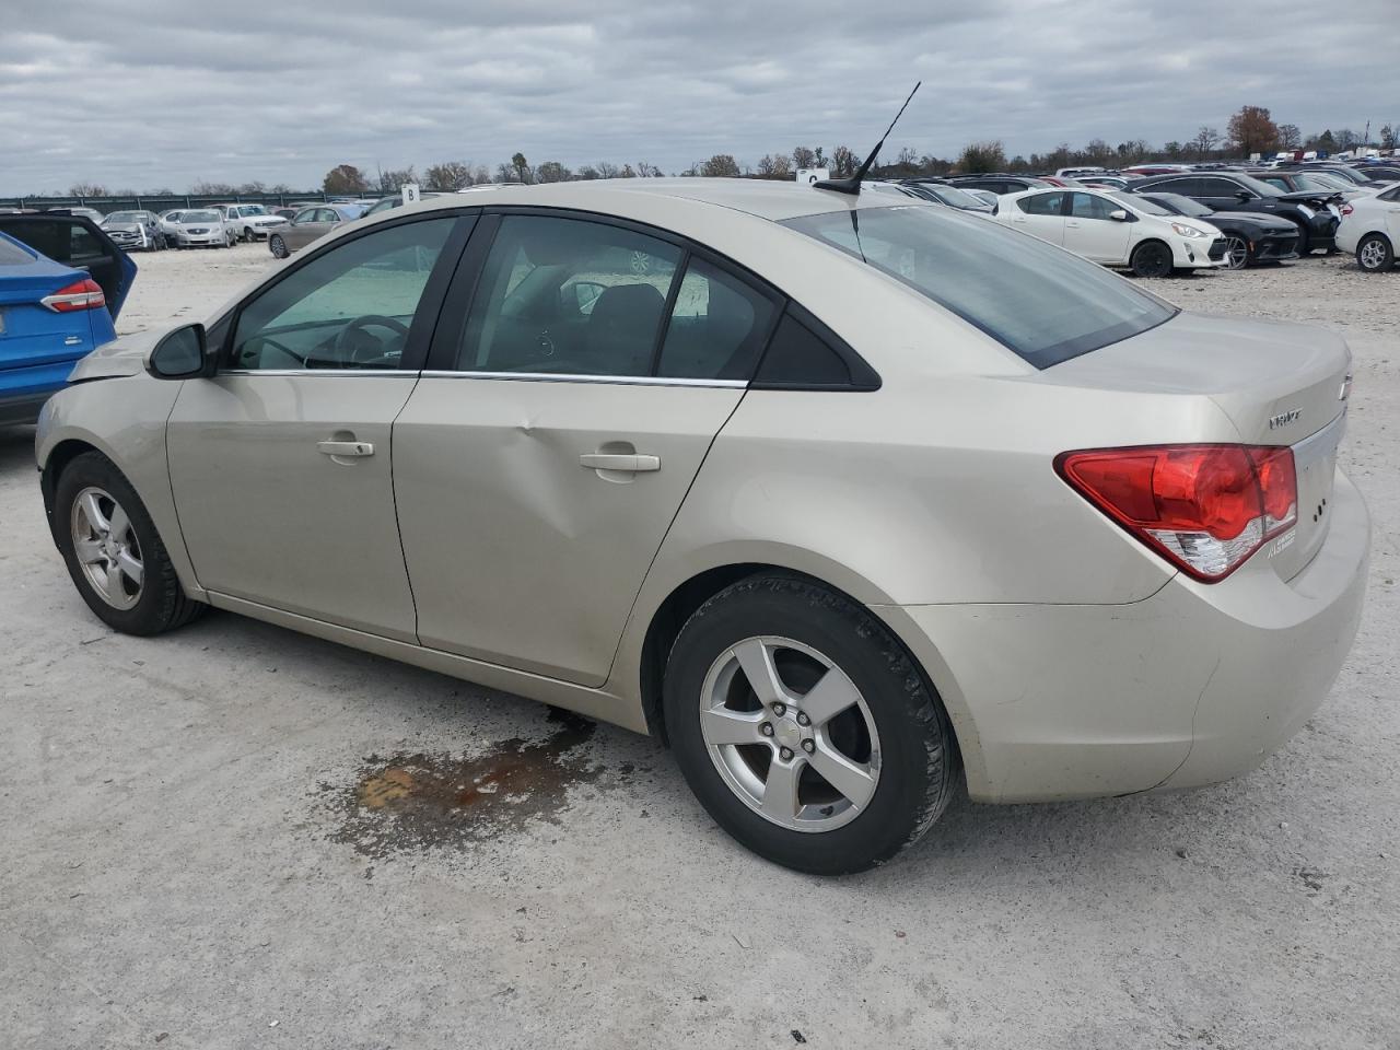
<path fill-rule="evenodd" d="M 1266 556 L 1284 580 L 1327 536 L 1337 447 L 1345 427 L 1351 351 L 1330 332 L 1182 312 L 1165 325 L 1046 371 L 1057 382 L 1201 395 L 1247 445 L 1287 445 L 1298 472 L 1298 524 Z"/>

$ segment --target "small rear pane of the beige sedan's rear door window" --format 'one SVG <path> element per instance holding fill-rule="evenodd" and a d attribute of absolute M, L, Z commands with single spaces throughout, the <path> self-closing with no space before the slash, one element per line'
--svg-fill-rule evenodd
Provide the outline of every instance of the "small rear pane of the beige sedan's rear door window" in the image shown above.
<path fill-rule="evenodd" d="M 748 379 L 776 312 L 753 288 L 692 259 L 671 311 L 657 375 Z"/>

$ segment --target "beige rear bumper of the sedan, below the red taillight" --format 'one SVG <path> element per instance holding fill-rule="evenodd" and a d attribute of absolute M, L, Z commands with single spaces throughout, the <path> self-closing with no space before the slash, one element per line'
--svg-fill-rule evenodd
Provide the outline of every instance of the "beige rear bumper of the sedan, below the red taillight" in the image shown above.
<path fill-rule="evenodd" d="M 1333 504 L 1326 543 L 1287 582 L 1256 556 L 1131 605 L 882 610 L 955 701 L 972 798 L 1121 795 L 1259 766 L 1322 704 L 1361 619 L 1371 521 L 1340 472 Z"/>

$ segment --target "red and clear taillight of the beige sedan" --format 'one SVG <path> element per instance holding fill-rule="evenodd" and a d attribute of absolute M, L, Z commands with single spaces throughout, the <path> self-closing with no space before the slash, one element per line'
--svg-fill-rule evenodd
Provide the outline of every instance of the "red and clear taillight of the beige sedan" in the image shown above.
<path fill-rule="evenodd" d="M 1298 521 L 1291 448 L 1098 448 L 1064 452 L 1054 466 L 1130 535 L 1207 582 Z"/>

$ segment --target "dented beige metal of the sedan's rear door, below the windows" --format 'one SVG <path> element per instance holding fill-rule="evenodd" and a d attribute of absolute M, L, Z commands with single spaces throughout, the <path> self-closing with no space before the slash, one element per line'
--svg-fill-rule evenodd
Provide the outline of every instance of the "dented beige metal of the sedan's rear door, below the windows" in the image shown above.
<path fill-rule="evenodd" d="M 424 377 L 393 426 L 431 648 L 598 686 L 742 389 Z"/>

